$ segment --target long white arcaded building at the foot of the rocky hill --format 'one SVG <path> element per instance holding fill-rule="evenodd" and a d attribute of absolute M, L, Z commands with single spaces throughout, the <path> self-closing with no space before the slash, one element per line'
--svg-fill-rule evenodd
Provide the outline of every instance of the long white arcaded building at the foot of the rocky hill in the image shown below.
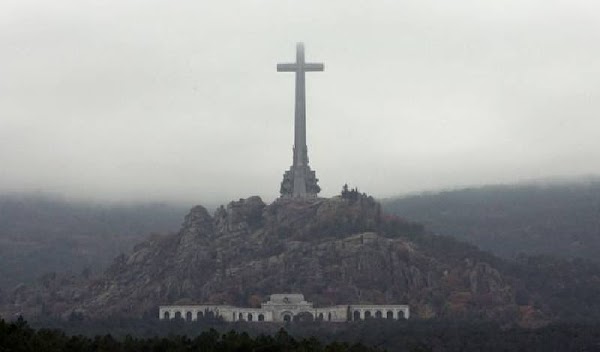
<path fill-rule="evenodd" d="M 408 319 L 407 305 L 351 304 L 313 307 L 302 294 L 273 294 L 260 308 L 240 308 L 228 305 L 160 306 L 159 319 L 181 318 L 188 321 L 213 316 L 225 321 L 286 322 L 292 320 L 322 320 L 345 322 L 362 319 Z"/>

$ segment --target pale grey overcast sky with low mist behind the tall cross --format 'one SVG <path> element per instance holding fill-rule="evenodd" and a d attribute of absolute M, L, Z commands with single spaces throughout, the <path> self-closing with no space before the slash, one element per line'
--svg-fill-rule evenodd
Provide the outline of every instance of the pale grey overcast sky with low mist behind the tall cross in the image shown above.
<path fill-rule="evenodd" d="M 0 193 L 323 196 L 600 174 L 596 0 L 0 2 Z"/>

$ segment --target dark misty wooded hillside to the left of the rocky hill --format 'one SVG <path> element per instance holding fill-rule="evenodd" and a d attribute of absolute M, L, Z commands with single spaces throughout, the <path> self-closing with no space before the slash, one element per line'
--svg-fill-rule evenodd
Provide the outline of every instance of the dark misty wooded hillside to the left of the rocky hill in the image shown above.
<path fill-rule="evenodd" d="M 48 272 L 99 272 L 151 233 L 176 231 L 187 207 L 0 196 L 0 290 Z"/>

